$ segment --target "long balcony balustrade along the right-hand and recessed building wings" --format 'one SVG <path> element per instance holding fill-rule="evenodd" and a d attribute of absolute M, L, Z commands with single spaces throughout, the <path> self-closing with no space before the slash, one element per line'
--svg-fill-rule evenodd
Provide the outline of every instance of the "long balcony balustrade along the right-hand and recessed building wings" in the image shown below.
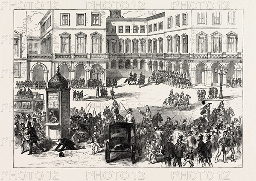
<path fill-rule="evenodd" d="M 109 57 L 160 57 L 160 58 L 174 58 L 174 59 L 241 59 L 241 52 L 238 53 L 115 53 L 108 54 Z"/>

